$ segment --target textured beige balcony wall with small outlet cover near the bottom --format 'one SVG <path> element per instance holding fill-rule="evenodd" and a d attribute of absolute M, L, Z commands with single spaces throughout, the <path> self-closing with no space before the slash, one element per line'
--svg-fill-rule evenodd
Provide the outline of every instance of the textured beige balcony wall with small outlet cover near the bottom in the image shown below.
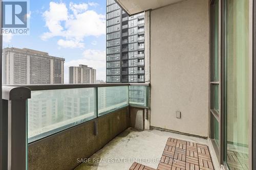
<path fill-rule="evenodd" d="M 208 41 L 208 1 L 151 11 L 151 126 L 208 136 Z"/>

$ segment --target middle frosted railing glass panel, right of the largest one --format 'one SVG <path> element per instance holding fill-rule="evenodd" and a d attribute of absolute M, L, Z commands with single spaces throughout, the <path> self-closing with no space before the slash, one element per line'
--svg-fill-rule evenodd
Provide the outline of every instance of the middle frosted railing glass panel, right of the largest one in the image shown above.
<path fill-rule="evenodd" d="M 128 86 L 99 87 L 98 115 L 104 115 L 129 105 Z"/>

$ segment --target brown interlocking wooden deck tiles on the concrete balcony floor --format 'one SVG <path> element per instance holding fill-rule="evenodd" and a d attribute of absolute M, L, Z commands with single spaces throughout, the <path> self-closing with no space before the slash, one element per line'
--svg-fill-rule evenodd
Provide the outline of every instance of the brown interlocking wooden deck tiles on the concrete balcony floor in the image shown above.
<path fill-rule="evenodd" d="M 130 170 L 150 169 L 134 163 Z M 168 138 L 157 170 L 212 170 L 209 149 L 205 144 Z"/>

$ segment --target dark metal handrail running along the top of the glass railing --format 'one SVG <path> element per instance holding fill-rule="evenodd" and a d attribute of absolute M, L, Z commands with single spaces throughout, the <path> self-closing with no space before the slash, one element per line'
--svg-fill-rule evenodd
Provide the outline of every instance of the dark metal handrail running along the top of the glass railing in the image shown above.
<path fill-rule="evenodd" d="M 37 90 L 57 90 L 57 89 L 72 89 L 72 88 L 90 88 L 90 87 L 111 87 L 111 86 L 150 86 L 149 83 L 105 83 L 105 84 L 38 84 L 38 85 L 3 85 L 6 88 L 21 88 L 27 87 L 31 91 Z M 3 94 L 4 96 L 4 94 Z"/>

